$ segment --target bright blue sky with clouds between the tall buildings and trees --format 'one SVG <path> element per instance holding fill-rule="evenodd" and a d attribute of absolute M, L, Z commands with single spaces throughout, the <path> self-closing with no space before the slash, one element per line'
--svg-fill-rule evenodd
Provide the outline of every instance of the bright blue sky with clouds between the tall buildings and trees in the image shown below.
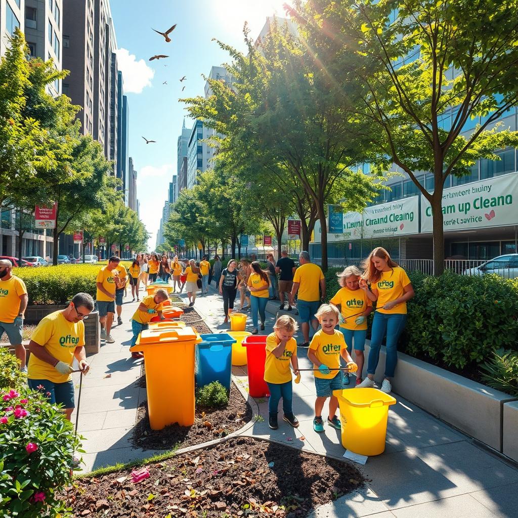
<path fill-rule="evenodd" d="M 244 50 L 244 21 L 256 37 L 267 16 L 284 16 L 285 1 L 111 0 L 119 67 L 130 105 L 130 156 L 138 171 L 140 218 L 151 233 L 150 250 L 155 247 L 169 182 L 176 173 L 177 138 L 185 115 L 178 99 L 204 95 L 202 74 L 208 75 L 211 66 L 228 61 L 212 38 Z M 175 23 L 170 43 L 152 31 L 165 32 Z M 169 57 L 148 61 L 154 54 Z M 187 80 L 180 83 L 182 76 Z M 186 124 L 191 127 L 192 121 L 186 120 Z M 142 136 L 157 142 L 146 145 Z"/>

